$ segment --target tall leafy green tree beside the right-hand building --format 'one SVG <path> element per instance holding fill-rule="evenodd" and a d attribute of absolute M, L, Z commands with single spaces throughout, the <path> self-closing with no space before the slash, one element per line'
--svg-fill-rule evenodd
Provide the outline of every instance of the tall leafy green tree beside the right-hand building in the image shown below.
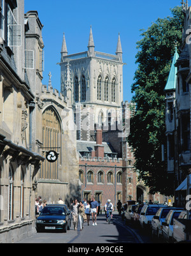
<path fill-rule="evenodd" d="M 171 10 L 173 17 L 157 19 L 142 31 L 137 43 L 138 68 L 132 84 L 132 102 L 135 103 L 131 118 L 131 131 L 127 138 L 134 149 L 135 168 L 150 193 L 173 194 L 173 177 L 168 176 L 162 162 L 162 144 L 165 135 L 165 94 L 167 77 L 174 55 L 174 41 L 181 43 L 183 13 L 181 7 Z"/>

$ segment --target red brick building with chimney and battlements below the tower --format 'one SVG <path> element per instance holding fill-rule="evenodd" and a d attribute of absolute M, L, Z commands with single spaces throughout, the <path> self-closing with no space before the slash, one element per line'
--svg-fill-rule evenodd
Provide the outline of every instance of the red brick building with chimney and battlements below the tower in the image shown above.
<path fill-rule="evenodd" d="M 114 206 L 118 200 L 136 200 L 136 174 L 131 170 L 132 163 L 117 158 L 111 144 L 102 140 L 102 130 L 97 130 L 95 142 L 77 142 L 81 197 L 91 199 L 94 196 L 101 207 L 108 199 Z"/>

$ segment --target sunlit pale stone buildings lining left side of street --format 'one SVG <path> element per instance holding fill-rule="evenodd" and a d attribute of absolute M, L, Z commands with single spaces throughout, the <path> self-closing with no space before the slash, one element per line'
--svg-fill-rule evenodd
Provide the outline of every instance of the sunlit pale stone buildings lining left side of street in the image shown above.
<path fill-rule="evenodd" d="M 14 243 L 36 232 L 37 195 L 68 204 L 78 196 L 79 167 L 76 132 L 64 123 L 70 106 L 51 77 L 42 86 L 38 12 L 24 14 L 24 0 L 0 3 L 0 243 Z M 50 149 L 56 163 L 46 160 Z"/>

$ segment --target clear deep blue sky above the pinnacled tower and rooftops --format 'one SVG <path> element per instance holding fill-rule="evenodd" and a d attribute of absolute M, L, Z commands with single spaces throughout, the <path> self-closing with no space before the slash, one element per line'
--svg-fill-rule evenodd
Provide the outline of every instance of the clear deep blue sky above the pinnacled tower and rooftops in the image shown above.
<path fill-rule="evenodd" d="M 141 40 L 140 29 L 147 30 L 158 18 L 171 16 L 171 8 L 181 6 L 181 0 L 25 0 L 25 13 L 38 11 L 43 24 L 45 71 L 43 84 L 60 91 L 60 50 L 63 33 L 68 54 L 87 50 L 90 26 L 95 50 L 115 54 L 118 33 L 123 50 L 124 100 L 131 101 L 131 85 L 136 71 L 136 42 Z"/>

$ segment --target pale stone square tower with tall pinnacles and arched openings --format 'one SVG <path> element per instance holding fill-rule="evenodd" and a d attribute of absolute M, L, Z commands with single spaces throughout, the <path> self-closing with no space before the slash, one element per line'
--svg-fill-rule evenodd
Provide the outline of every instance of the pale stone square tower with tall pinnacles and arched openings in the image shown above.
<path fill-rule="evenodd" d="M 120 34 L 115 55 L 97 52 L 90 27 L 87 48 L 85 52 L 68 55 L 64 34 L 59 63 L 61 92 L 66 102 L 73 106 L 77 139 L 80 140 L 92 140 L 95 123 L 103 130 L 112 122 L 115 126 L 120 119 L 123 99 Z"/>

